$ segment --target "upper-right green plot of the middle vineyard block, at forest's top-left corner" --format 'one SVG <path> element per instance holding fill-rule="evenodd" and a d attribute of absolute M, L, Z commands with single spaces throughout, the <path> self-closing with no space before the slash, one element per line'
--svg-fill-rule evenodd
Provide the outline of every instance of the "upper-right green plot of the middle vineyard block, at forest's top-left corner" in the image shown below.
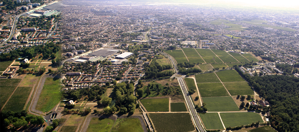
<path fill-rule="evenodd" d="M 244 79 L 235 70 L 216 72 L 222 82 L 242 82 Z"/>

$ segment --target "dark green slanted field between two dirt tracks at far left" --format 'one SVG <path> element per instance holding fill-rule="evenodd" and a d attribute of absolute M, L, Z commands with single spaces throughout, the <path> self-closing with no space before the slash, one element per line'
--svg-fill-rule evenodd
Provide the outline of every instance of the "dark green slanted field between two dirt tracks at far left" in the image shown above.
<path fill-rule="evenodd" d="M 18 87 L 3 110 L 22 111 L 32 87 Z"/>

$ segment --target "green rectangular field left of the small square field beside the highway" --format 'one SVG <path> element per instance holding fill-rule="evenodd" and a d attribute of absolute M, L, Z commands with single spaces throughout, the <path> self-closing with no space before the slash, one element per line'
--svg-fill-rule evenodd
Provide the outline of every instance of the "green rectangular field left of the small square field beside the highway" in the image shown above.
<path fill-rule="evenodd" d="M 169 111 L 169 98 L 144 98 L 140 101 L 148 112 Z"/>

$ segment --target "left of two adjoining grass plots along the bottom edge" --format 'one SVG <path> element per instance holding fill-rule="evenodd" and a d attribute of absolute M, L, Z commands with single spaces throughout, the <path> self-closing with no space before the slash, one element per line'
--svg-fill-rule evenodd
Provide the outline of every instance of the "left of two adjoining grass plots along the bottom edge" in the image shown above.
<path fill-rule="evenodd" d="M 91 118 L 88 132 L 110 132 L 114 120 L 108 118 Z"/>

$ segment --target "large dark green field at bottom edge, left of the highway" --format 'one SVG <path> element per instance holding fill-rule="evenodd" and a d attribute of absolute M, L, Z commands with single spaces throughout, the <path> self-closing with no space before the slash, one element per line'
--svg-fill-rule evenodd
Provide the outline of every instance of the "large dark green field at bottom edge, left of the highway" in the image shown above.
<path fill-rule="evenodd" d="M 188 132 L 195 130 L 189 113 L 149 113 L 157 132 Z"/>

